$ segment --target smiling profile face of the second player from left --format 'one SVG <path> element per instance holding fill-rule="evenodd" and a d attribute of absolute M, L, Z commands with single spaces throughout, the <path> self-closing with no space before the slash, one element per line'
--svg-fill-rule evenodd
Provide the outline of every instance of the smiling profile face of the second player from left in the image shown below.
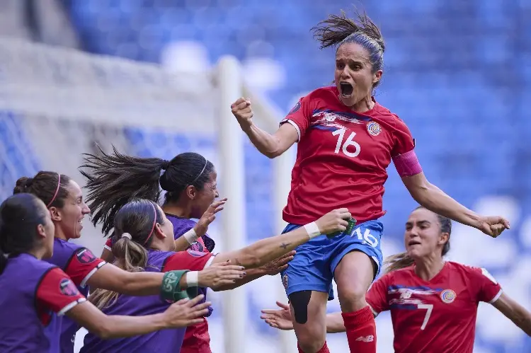
<path fill-rule="evenodd" d="M 75 239 L 81 236 L 83 219 L 91 210 L 83 201 L 81 187 L 74 180 L 70 180 L 67 190 L 68 196 L 64 199 L 64 206 L 58 209 L 60 221 L 57 221 L 55 226 L 61 229 L 67 239 Z"/>

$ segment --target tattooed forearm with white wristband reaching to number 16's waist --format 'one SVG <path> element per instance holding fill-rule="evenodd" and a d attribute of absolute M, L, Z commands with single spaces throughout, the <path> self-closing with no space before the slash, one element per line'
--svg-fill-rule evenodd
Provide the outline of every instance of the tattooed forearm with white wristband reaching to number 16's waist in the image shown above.
<path fill-rule="evenodd" d="M 316 236 L 345 231 L 348 226 L 346 219 L 350 219 L 348 209 L 334 209 L 317 221 L 297 228 L 295 231 L 262 239 L 240 250 L 220 253 L 215 257 L 214 262 L 231 260 L 233 264 L 246 268 L 260 267 Z"/>

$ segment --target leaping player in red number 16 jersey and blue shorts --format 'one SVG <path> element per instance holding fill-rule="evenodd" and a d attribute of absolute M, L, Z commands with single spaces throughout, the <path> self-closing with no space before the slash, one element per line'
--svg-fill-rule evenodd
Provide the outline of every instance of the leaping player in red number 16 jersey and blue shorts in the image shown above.
<path fill-rule="evenodd" d="M 301 98 L 274 134 L 254 125 L 249 99 L 232 112 L 258 151 L 275 158 L 298 142 L 292 190 L 283 211 L 285 231 L 329 209 L 346 207 L 358 221 L 352 234 L 326 237 L 297 248 L 282 273 L 294 308 L 299 351 L 329 352 L 325 341 L 326 299 L 332 278 L 347 328 L 350 352 L 375 352 L 375 321 L 365 292 L 382 262 L 382 195 L 387 166 L 394 162 L 413 199 L 427 209 L 498 236 L 508 228 L 500 216 L 479 216 L 426 180 L 404 122 L 372 97 L 382 79 L 384 40 L 365 14 L 358 21 L 330 16 L 315 28 L 321 48 L 336 47 L 336 86 L 317 88 Z M 308 263 L 310 259 L 310 265 Z M 373 337 L 370 341 L 360 337 Z"/>

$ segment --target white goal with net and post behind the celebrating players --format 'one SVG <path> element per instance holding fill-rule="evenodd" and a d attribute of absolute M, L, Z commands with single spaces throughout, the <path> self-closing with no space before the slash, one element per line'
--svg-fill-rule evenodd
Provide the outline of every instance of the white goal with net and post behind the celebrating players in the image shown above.
<path fill-rule="evenodd" d="M 38 170 L 71 175 L 83 185 L 81 154 L 95 151 L 95 143 L 167 159 L 196 151 L 217 166 L 220 193 L 229 197 L 209 231 L 217 249 L 271 236 L 282 226 L 280 209 L 292 164 L 290 156 L 272 162 L 249 146 L 230 112 L 232 101 L 242 95 L 253 100 L 261 127 L 277 127 L 281 114 L 246 89 L 239 63 L 231 57 L 202 73 L 170 73 L 155 64 L 0 38 L 0 197 L 11 195 L 18 178 Z M 85 224 L 79 241 L 101 253 L 100 230 Z M 276 277 L 261 282 L 258 288 L 280 286 Z M 210 295 L 215 302 L 212 345 L 231 353 L 250 352 L 250 347 L 256 353 L 258 347 L 280 352 L 280 345 L 275 349 L 271 343 L 279 340 L 253 337 L 247 322 L 259 312 L 248 314 L 241 305 L 253 298 L 258 307 L 271 306 L 278 296 L 250 290 Z"/>

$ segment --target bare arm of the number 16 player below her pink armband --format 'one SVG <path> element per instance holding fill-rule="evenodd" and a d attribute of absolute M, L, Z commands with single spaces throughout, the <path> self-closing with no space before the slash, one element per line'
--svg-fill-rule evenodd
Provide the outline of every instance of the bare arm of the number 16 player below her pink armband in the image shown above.
<path fill-rule="evenodd" d="M 480 216 L 464 207 L 438 187 L 428 182 L 424 173 L 402 176 L 411 197 L 426 209 L 448 217 L 467 226 L 472 226 L 489 236 L 499 236 L 502 231 L 510 228 L 509 222 L 501 216 Z"/>

